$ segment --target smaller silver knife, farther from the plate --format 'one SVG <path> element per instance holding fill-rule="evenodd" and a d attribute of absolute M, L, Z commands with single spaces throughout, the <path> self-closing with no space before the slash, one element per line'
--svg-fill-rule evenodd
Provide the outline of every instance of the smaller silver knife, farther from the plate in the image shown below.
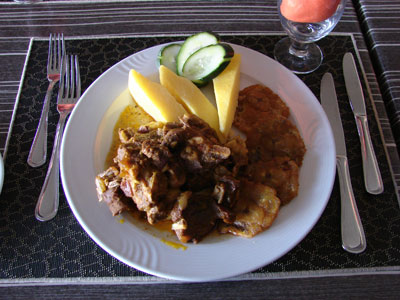
<path fill-rule="evenodd" d="M 369 134 L 364 94 L 353 55 L 349 52 L 343 57 L 343 72 L 350 106 L 353 110 L 360 137 L 365 188 L 370 194 L 381 194 L 383 192 L 382 177 Z"/>

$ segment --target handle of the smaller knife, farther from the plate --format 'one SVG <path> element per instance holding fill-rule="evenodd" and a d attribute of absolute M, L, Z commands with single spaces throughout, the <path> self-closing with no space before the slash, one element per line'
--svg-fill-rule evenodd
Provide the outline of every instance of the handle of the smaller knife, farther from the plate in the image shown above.
<path fill-rule="evenodd" d="M 369 134 L 368 120 L 366 116 L 355 116 L 355 119 L 361 143 L 365 188 L 368 193 L 378 195 L 383 192 L 383 183 Z"/>

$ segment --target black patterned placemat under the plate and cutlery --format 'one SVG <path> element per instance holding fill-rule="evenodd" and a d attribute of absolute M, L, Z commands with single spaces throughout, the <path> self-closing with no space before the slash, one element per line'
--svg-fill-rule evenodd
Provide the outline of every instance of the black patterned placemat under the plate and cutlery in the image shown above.
<path fill-rule="evenodd" d="M 281 36 L 274 35 L 222 36 L 224 41 L 244 45 L 270 57 L 274 44 L 280 38 Z M 147 47 L 180 39 L 182 38 L 142 37 L 67 40 L 66 45 L 68 52 L 80 57 L 84 90 L 102 72 L 121 59 Z M 354 255 L 341 248 L 340 195 L 336 180 L 327 208 L 313 230 L 292 251 L 276 262 L 256 270 L 258 273 L 273 276 L 276 272 L 307 273 L 332 269 L 362 271 L 400 266 L 400 210 L 369 98 L 369 125 L 385 192 L 374 196 L 364 189 L 360 144 L 341 72 L 344 53 L 351 51 L 356 54 L 351 36 L 328 36 L 319 45 L 325 55 L 323 65 L 316 72 L 300 78 L 319 98 L 322 75 L 329 71 L 334 76 L 346 134 L 353 189 L 366 233 L 367 250 Z M 55 219 L 42 223 L 34 217 L 33 212 L 47 164 L 34 169 L 26 164 L 26 159 L 47 89 L 47 47 L 47 41 L 34 41 L 32 44 L 7 149 L 5 182 L 0 198 L 0 278 L 144 276 L 146 274 L 111 257 L 89 238 L 73 216 L 62 189 L 60 209 Z M 367 95 L 365 83 L 364 92 Z M 55 94 L 49 116 L 49 153 L 58 121 Z"/>

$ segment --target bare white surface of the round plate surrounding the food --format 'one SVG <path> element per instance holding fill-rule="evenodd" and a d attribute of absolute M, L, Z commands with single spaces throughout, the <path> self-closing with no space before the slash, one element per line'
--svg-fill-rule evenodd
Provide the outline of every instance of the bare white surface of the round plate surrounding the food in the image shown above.
<path fill-rule="evenodd" d="M 128 215 L 112 217 L 106 204 L 97 201 L 94 178 L 104 169 L 114 124 L 130 100 L 128 72 L 134 68 L 156 78 L 155 59 L 160 47 L 135 53 L 103 73 L 71 114 L 62 142 L 61 176 L 75 217 L 109 254 L 165 278 L 217 280 L 275 261 L 307 235 L 325 209 L 335 176 L 335 145 L 313 93 L 279 63 L 251 49 L 233 45 L 242 55 L 241 88 L 262 83 L 278 93 L 290 107 L 307 147 L 299 195 L 281 209 L 270 229 L 252 239 L 214 234 L 182 250 L 162 241 L 177 241 L 172 234 L 140 224 Z"/>

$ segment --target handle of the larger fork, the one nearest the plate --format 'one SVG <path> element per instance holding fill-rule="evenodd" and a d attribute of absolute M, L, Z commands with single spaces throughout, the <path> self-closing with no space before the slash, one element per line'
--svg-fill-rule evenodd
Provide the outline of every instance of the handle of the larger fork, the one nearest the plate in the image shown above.
<path fill-rule="evenodd" d="M 39 221 L 48 221 L 55 217 L 58 211 L 59 203 L 59 181 L 60 181 L 60 144 L 64 131 L 65 120 L 68 114 L 60 114 L 57 124 L 56 138 L 53 146 L 53 152 L 47 170 L 46 178 L 39 200 L 35 208 L 35 217 Z"/>

